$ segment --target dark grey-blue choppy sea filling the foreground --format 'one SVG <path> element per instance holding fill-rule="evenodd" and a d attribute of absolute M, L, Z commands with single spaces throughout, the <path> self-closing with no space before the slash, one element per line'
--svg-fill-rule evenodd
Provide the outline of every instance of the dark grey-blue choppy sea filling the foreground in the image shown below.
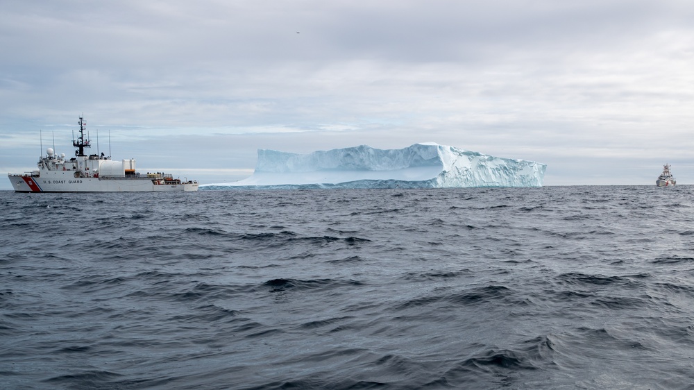
<path fill-rule="evenodd" d="M 692 388 L 692 198 L 1 192 L 0 388 Z"/>

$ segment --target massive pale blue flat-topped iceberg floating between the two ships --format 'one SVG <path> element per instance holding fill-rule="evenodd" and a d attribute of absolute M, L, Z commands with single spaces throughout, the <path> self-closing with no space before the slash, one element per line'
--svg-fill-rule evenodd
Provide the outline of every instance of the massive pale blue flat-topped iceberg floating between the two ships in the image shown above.
<path fill-rule="evenodd" d="M 361 145 L 308 154 L 259 149 L 253 176 L 200 189 L 541 187 L 545 169 L 539 162 L 430 142 L 404 149 Z"/>

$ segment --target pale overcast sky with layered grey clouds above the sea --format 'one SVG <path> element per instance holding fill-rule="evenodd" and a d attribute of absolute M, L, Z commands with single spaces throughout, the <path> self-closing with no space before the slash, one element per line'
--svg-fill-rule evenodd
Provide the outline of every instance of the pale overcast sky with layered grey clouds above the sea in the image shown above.
<path fill-rule="evenodd" d="M 417 142 L 545 185 L 694 183 L 691 0 L 4 0 L 0 51 L 4 173 L 40 133 L 74 154 L 84 113 L 101 151 L 201 183 L 257 149 Z"/>

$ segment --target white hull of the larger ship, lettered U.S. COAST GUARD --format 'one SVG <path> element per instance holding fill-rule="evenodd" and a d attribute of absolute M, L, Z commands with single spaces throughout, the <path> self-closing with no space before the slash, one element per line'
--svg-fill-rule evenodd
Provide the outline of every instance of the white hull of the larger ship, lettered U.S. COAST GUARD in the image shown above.
<path fill-rule="evenodd" d="M 62 173 L 62 174 L 61 174 Z M 72 172 L 52 177 L 10 175 L 15 192 L 176 192 L 197 191 L 198 183 L 155 184 L 149 178 L 74 178 Z"/>

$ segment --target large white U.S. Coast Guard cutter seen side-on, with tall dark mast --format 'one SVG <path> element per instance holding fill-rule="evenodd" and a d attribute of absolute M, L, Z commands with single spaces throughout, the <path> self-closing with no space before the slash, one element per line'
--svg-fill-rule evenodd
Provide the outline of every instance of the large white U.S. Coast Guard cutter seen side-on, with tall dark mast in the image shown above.
<path fill-rule="evenodd" d="M 135 159 L 114 161 L 111 156 L 85 155 L 90 139 L 85 139 L 86 124 L 79 121 L 80 133 L 72 145 L 77 148 L 69 160 L 53 149 L 39 159 L 38 169 L 26 173 L 8 173 L 16 192 L 165 192 L 197 191 L 198 182 L 183 182 L 166 173 L 135 171 Z"/>

